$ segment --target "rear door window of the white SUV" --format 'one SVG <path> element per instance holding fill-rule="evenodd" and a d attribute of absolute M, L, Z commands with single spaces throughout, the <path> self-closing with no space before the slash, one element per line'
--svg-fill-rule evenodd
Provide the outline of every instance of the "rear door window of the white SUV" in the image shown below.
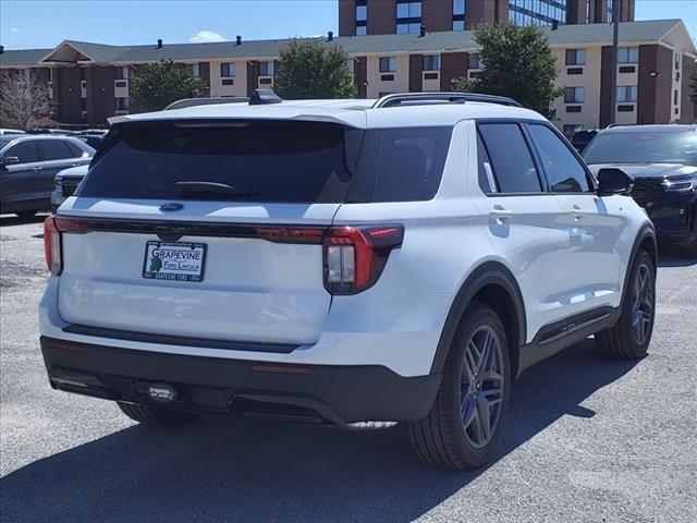
<path fill-rule="evenodd" d="M 499 192 L 542 192 L 530 150 L 517 123 L 481 123 L 479 133 L 490 158 L 492 179 Z M 484 168 L 486 169 L 486 163 Z"/>

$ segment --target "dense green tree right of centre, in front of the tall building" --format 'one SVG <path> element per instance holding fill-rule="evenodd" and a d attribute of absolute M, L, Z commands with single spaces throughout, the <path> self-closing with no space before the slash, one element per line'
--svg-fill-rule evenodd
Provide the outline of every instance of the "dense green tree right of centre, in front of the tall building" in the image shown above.
<path fill-rule="evenodd" d="M 557 60 L 539 27 L 480 25 L 475 40 L 485 69 L 475 78 L 455 78 L 453 90 L 509 96 L 548 118 L 554 115 L 552 101 L 564 89 L 554 84 Z"/>

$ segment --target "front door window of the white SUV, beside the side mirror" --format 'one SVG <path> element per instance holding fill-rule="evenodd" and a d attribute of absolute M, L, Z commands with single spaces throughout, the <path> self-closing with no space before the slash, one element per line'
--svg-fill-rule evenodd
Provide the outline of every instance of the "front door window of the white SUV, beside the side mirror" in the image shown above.
<path fill-rule="evenodd" d="M 586 170 L 568 147 L 547 125 L 530 124 L 528 131 L 554 193 L 587 193 L 590 191 Z"/>

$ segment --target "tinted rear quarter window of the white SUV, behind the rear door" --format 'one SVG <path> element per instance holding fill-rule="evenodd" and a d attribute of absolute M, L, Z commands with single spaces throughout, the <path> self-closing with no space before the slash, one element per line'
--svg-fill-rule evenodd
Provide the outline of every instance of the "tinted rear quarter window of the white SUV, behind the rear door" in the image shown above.
<path fill-rule="evenodd" d="M 438 192 L 452 126 L 366 131 L 347 202 L 415 202 Z"/>

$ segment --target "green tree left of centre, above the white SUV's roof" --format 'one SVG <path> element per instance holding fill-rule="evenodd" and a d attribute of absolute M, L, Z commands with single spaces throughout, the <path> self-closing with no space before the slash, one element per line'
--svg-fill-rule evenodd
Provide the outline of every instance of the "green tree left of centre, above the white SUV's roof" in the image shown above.
<path fill-rule="evenodd" d="M 182 98 L 196 98 L 206 83 L 172 60 L 160 60 L 131 77 L 133 105 L 138 110 L 160 111 Z"/>

